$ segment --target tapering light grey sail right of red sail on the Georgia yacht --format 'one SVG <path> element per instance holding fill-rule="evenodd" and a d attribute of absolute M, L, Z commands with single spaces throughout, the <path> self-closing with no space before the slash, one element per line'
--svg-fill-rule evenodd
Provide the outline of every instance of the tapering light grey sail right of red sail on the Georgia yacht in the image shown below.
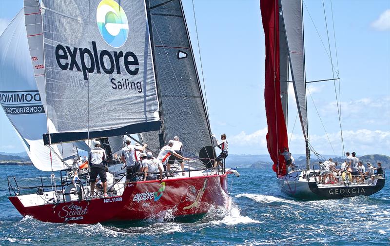
<path fill-rule="evenodd" d="M 307 140 L 306 78 L 301 0 L 281 0 L 290 68 L 303 136 Z M 281 77 L 282 78 L 282 77 Z"/>

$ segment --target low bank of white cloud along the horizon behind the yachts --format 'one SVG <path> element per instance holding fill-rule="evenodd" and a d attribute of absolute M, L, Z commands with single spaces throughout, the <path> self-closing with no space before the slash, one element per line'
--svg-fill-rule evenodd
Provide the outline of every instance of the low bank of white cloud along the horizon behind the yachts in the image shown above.
<path fill-rule="evenodd" d="M 239 134 L 229 138 L 229 149 L 234 154 L 268 154 L 266 134 L 267 127 L 253 133 Z M 302 134 L 288 134 L 290 151 L 293 154 L 305 153 L 305 141 Z M 329 140 L 331 144 L 329 143 Z M 345 130 L 343 131 L 345 151 L 355 151 L 358 155 L 385 154 L 390 155 L 390 131 L 381 130 Z M 341 133 L 333 132 L 323 135 L 310 135 L 310 143 L 319 154 L 340 156 L 343 154 L 341 148 Z M 333 153 L 333 149 L 334 153 Z"/>

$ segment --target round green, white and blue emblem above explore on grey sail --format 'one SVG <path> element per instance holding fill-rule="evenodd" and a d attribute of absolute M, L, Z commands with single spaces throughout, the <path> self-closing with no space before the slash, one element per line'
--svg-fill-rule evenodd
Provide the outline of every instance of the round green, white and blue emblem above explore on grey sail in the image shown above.
<path fill-rule="evenodd" d="M 129 23 L 123 8 L 114 0 L 102 0 L 96 11 L 98 29 L 111 47 L 119 48 L 129 35 Z"/>

